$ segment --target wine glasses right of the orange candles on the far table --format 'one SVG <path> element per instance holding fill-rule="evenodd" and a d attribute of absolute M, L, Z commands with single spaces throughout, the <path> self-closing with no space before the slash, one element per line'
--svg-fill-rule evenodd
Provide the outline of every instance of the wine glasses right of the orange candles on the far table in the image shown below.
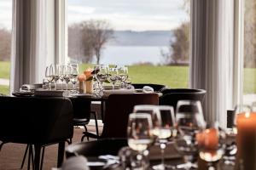
<path fill-rule="evenodd" d="M 119 82 L 120 88 L 127 88 L 128 81 L 128 67 L 124 65 L 96 65 L 95 71 L 95 89 L 96 94 L 99 94 L 103 89 L 104 82 L 110 82 L 114 89 L 115 84 Z"/>

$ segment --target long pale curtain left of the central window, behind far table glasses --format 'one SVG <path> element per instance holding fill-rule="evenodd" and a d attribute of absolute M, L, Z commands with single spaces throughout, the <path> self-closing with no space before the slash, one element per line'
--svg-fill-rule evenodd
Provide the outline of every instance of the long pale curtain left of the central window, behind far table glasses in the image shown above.
<path fill-rule="evenodd" d="M 42 82 L 46 65 L 65 62 L 65 54 L 57 53 L 63 44 L 56 35 L 64 34 L 59 26 L 65 21 L 56 21 L 64 10 L 59 2 L 66 1 L 14 0 L 11 92 L 25 83 Z"/>

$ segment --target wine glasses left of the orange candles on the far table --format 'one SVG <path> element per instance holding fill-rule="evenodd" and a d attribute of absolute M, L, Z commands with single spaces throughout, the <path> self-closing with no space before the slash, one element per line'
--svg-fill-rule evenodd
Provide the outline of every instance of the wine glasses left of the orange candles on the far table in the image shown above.
<path fill-rule="evenodd" d="M 66 85 L 65 89 L 68 90 L 68 84 L 69 82 L 71 82 L 73 84 L 73 89 L 71 90 L 71 92 L 73 94 L 76 94 L 78 93 L 78 91 L 76 90 L 78 75 L 78 64 L 49 65 L 45 69 L 45 78 L 43 81 L 43 86 L 46 87 L 46 85 L 48 85 L 48 88 L 46 88 L 49 90 L 52 90 L 52 87 L 54 87 L 55 90 L 64 90 L 64 85 Z M 60 88 L 57 88 L 58 82 L 61 82 Z"/>

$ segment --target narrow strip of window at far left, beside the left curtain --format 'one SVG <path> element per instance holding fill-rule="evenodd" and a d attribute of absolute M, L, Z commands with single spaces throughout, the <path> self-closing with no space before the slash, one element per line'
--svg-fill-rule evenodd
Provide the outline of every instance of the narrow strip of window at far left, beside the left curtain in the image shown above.
<path fill-rule="evenodd" d="M 9 94 L 12 1 L 0 1 L 0 94 Z"/>

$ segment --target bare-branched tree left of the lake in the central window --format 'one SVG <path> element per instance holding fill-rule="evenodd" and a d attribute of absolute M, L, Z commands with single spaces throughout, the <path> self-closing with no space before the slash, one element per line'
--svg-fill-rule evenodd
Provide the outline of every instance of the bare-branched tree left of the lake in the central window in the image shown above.
<path fill-rule="evenodd" d="M 113 38 L 113 29 L 106 20 L 88 20 L 68 28 L 68 54 L 84 62 L 96 56 L 99 64 L 102 48 Z"/>

